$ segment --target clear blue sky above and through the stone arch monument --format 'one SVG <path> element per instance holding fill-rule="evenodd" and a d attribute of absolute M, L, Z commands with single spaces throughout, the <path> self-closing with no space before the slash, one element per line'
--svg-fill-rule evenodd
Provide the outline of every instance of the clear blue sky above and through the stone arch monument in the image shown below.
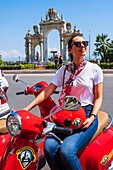
<path fill-rule="evenodd" d="M 99 34 L 108 34 L 113 40 L 113 0 L 0 0 L 0 54 L 4 61 L 25 59 L 25 35 L 34 33 L 33 26 L 50 8 L 54 8 L 65 22 L 76 25 L 86 40 L 90 37 L 90 55 Z M 59 51 L 59 33 L 49 33 L 48 50 Z M 87 52 L 87 56 L 89 51 Z"/>

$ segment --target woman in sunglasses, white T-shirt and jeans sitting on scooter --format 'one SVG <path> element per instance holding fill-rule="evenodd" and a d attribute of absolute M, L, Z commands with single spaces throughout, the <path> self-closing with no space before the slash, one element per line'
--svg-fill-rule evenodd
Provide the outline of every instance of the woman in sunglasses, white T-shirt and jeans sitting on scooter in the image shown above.
<path fill-rule="evenodd" d="M 88 41 L 85 41 L 80 33 L 76 33 L 68 42 L 68 52 L 72 62 L 62 66 L 54 76 L 49 86 L 40 93 L 25 109 L 30 110 L 37 104 L 47 99 L 57 87 L 61 87 L 64 81 L 63 94 L 60 102 L 67 93 L 67 83 L 70 85 L 68 95 L 75 96 L 86 112 L 86 121 L 83 127 L 73 131 L 73 134 L 59 135 L 63 144 L 47 137 L 45 141 L 45 156 L 52 170 L 81 170 L 81 164 L 77 158 L 77 152 L 86 145 L 98 127 L 97 114 L 102 104 L 103 73 L 101 68 L 94 63 L 85 60 Z M 64 80 L 63 80 L 64 79 Z"/>

